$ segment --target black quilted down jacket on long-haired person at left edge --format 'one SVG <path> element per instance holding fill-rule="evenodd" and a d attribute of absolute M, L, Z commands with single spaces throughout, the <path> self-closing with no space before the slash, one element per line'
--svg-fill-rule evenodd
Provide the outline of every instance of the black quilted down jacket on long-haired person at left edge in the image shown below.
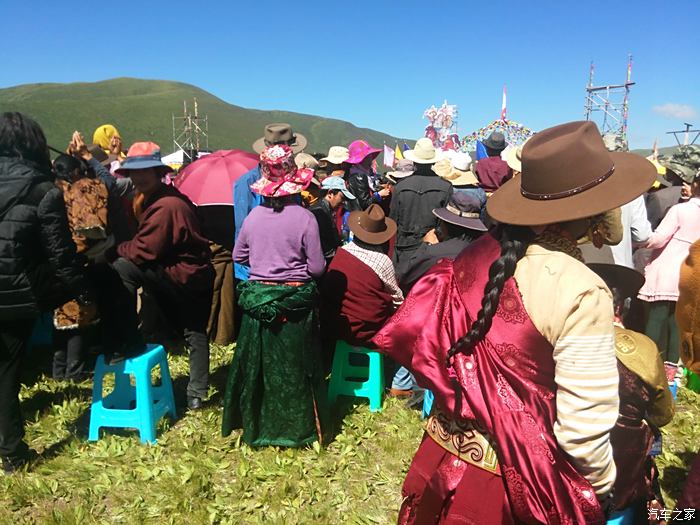
<path fill-rule="evenodd" d="M 60 190 L 33 163 L 0 157 L 0 321 L 85 291 Z"/>

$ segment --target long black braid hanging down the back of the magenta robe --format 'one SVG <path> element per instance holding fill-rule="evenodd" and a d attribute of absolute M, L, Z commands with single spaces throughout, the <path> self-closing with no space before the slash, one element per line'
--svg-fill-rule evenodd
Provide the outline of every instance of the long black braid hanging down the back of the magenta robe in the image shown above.
<path fill-rule="evenodd" d="M 484 287 L 481 310 L 467 335 L 457 339 L 448 350 L 447 366 L 450 366 L 450 361 L 457 353 L 471 350 L 488 333 L 498 308 L 503 286 L 515 273 L 515 266 L 525 255 L 527 247 L 535 238 L 535 232 L 526 226 L 503 224 L 499 226 L 497 237 L 501 243 L 501 256 L 489 268 L 489 280 Z"/>

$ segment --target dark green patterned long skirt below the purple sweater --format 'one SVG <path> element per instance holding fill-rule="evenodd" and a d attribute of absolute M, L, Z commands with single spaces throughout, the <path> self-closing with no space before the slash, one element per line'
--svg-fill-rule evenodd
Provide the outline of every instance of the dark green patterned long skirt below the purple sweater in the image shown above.
<path fill-rule="evenodd" d="M 243 310 L 231 362 L 222 432 L 243 429 L 259 447 L 300 447 L 319 439 L 323 383 L 316 284 L 238 285 Z"/>

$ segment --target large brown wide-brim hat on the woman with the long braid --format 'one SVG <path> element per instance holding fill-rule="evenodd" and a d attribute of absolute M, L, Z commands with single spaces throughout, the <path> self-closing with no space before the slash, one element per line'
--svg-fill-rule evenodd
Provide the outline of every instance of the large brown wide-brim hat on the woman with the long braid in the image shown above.
<path fill-rule="evenodd" d="M 598 127 L 569 122 L 523 146 L 522 171 L 489 198 L 496 221 L 536 226 L 591 217 L 632 201 L 656 178 L 654 165 L 633 153 L 608 152 Z"/>

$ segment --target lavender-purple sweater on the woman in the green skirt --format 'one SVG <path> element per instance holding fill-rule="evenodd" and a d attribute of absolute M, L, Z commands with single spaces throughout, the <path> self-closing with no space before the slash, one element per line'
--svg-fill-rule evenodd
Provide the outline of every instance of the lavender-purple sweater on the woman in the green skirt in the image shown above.
<path fill-rule="evenodd" d="M 250 266 L 251 281 L 309 281 L 326 265 L 316 218 L 296 204 L 280 213 L 254 208 L 243 221 L 233 260 Z"/>

